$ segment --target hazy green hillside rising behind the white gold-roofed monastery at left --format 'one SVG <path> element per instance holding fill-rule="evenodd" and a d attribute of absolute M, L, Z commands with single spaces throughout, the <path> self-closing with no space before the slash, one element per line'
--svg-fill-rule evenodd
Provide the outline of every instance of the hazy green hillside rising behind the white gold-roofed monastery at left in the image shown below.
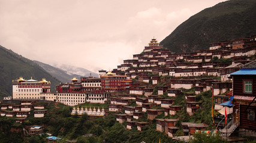
<path fill-rule="evenodd" d="M 46 78 L 51 82 L 54 90 L 59 80 L 28 58 L 0 46 L 0 100 L 2 97 L 12 95 L 12 81 L 22 76 L 24 79 L 41 80 Z"/>

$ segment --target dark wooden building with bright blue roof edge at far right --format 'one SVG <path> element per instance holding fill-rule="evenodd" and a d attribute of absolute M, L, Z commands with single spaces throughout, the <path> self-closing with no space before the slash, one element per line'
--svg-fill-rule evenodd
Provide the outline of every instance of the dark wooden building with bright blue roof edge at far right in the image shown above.
<path fill-rule="evenodd" d="M 233 78 L 233 126 L 251 130 L 245 135 L 256 136 L 256 60 L 230 75 Z"/>

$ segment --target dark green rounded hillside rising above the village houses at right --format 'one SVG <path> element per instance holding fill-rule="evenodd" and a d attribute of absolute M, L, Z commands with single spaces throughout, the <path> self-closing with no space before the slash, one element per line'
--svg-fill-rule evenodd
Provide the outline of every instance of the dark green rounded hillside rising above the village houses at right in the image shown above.
<path fill-rule="evenodd" d="M 173 52 L 193 52 L 212 42 L 256 35 L 255 7 L 255 0 L 221 2 L 184 21 L 160 44 Z"/>

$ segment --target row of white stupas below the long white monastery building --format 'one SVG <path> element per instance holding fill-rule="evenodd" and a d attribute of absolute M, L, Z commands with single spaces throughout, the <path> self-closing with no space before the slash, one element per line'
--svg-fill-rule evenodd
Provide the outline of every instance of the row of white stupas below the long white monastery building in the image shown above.
<path fill-rule="evenodd" d="M 71 115 L 82 115 L 82 114 L 87 114 L 88 116 L 105 116 L 105 110 L 104 107 L 102 108 L 102 110 L 100 110 L 100 107 L 98 107 L 98 110 L 96 111 L 95 107 L 94 110 L 91 109 L 91 107 L 89 108 L 89 110 L 87 109 L 87 107 L 85 107 L 85 109 L 83 107 L 81 107 L 81 109 L 79 107 L 77 108 L 73 108 Z"/>

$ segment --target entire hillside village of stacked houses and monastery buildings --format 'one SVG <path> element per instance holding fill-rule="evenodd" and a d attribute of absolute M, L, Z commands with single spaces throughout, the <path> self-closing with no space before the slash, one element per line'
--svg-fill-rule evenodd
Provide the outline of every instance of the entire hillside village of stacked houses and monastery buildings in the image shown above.
<path fill-rule="evenodd" d="M 194 116 L 204 110 L 203 104 L 213 104 L 213 120 L 223 138 L 255 137 L 255 54 L 256 36 L 210 43 L 209 49 L 192 53 L 173 53 L 153 38 L 143 52 L 124 60 L 117 69 L 100 70 L 99 77 L 81 77 L 80 81 L 74 77 L 70 83 L 56 85 L 56 92 L 50 91 L 46 79 L 13 80 L 13 96 L 4 98 L 1 116 L 16 116 L 16 122 L 22 123 L 34 107 L 34 117 L 44 117 L 47 110 L 37 101 L 46 100 L 69 105 L 73 116 L 105 117 L 115 112 L 116 121 L 125 123 L 128 130 L 141 131 L 156 120 L 157 131 L 189 141 L 197 132 L 216 130 L 204 122 L 179 123 L 177 114 L 186 111 Z M 198 95 L 206 92 L 212 98 L 204 103 Z M 80 106 L 86 102 L 107 103 L 108 108 Z M 226 107 L 230 107 L 227 127 L 222 120 Z"/>

